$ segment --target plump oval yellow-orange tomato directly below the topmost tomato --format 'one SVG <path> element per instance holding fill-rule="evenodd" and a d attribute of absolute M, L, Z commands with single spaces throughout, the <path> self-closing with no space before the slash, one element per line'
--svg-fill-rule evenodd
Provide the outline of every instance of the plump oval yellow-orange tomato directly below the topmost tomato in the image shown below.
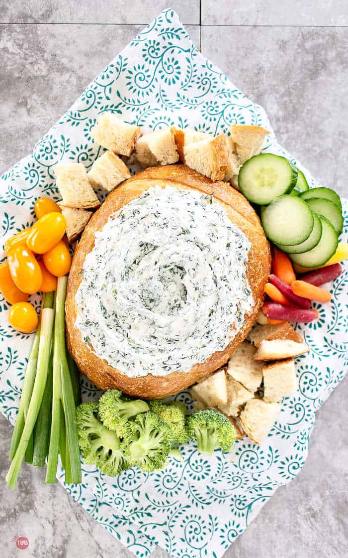
<path fill-rule="evenodd" d="M 61 213 L 46 213 L 33 225 L 27 247 L 36 254 L 45 254 L 56 246 L 65 233 L 66 220 Z"/>

